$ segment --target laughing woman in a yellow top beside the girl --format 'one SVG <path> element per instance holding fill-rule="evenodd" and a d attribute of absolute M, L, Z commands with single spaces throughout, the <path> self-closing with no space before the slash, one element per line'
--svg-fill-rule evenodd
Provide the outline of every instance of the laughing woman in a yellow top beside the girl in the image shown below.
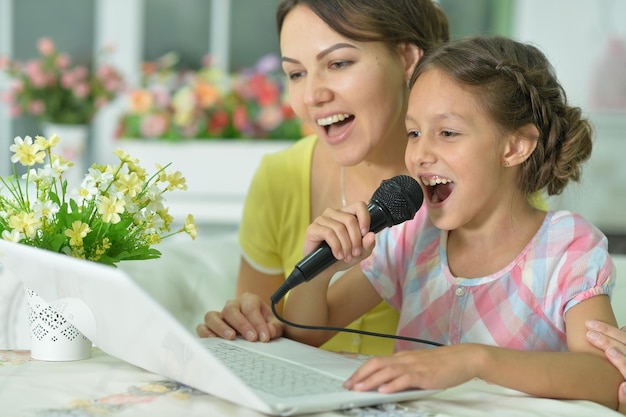
<path fill-rule="evenodd" d="M 249 340 L 272 335 L 258 334 L 241 314 L 247 295 L 269 300 L 301 259 L 312 219 L 326 207 L 367 201 L 381 180 L 407 173 L 407 82 L 424 52 L 449 38 L 447 19 L 431 0 L 284 0 L 277 25 L 290 103 L 314 135 L 263 159 L 240 226 L 238 299 L 205 316 L 210 324 L 235 315 L 240 324 L 233 327 Z M 269 308 L 263 311 L 269 319 Z M 397 323 L 381 303 L 351 327 L 393 334 Z M 215 336 L 206 324 L 198 334 Z M 221 329 L 219 336 L 235 336 Z M 393 342 L 342 333 L 323 347 L 384 354 Z"/>

